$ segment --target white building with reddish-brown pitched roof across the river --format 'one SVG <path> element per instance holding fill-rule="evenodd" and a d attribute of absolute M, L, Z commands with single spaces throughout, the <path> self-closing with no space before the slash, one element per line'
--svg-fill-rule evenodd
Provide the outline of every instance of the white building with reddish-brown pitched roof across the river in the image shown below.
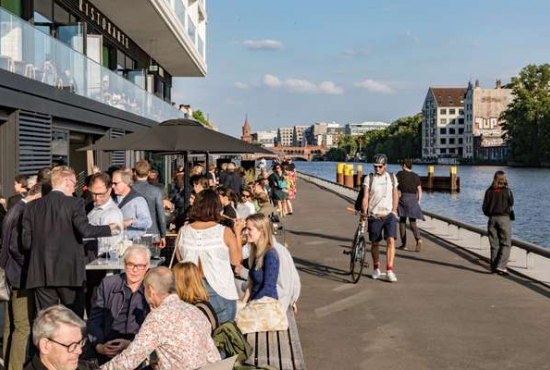
<path fill-rule="evenodd" d="M 422 159 L 464 158 L 466 88 L 428 90 L 422 107 Z"/>

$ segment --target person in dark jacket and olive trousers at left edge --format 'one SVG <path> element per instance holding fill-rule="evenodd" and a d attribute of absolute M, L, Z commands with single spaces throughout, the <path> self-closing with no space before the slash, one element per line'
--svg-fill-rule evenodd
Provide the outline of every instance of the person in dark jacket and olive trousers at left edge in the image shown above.
<path fill-rule="evenodd" d="M 29 254 L 22 250 L 21 227 L 27 203 L 42 196 L 41 185 L 34 185 L 27 196 L 9 210 L 2 227 L 5 238 L 0 252 L 0 267 L 12 287 L 11 299 L 4 302 L 4 366 L 6 369 L 23 369 L 32 317 L 26 289 Z"/>

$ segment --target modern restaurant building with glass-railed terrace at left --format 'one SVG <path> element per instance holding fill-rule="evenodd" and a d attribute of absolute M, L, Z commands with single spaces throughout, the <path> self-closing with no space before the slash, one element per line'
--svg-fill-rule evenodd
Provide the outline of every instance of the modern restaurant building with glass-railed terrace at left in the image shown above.
<path fill-rule="evenodd" d="M 76 150 L 183 117 L 173 78 L 206 75 L 206 21 L 204 0 L 0 0 L 4 191 L 55 163 L 131 165 Z"/>

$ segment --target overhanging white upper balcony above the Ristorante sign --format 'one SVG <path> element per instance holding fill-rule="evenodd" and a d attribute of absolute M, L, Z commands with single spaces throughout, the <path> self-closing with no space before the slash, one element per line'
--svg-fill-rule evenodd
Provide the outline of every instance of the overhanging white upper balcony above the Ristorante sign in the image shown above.
<path fill-rule="evenodd" d="M 188 34 L 182 0 L 90 1 L 172 76 L 206 75 L 206 61 Z"/>

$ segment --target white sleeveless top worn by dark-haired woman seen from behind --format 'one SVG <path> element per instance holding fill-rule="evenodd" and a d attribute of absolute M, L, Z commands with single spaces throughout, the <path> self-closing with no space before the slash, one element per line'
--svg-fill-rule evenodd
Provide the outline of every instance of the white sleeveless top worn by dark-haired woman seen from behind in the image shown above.
<path fill-rule="evenodd" d="M 191 225 L 181 228 L 178 249 L 183 262 L 202 265 L 208 284 L 225 299 L 237 300 L 237 287 L 231 270 L 229 247 L 224 241 L 225 226 L 216 225 L 203 230 Z"/>

